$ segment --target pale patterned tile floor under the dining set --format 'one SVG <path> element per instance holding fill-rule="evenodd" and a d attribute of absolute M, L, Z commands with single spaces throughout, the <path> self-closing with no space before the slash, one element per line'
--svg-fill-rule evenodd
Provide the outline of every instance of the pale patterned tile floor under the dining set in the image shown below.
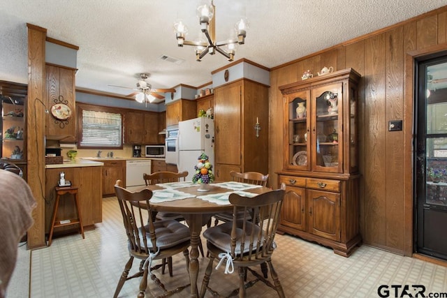
<path fill-rule="evenodd" d="M 389 297 L 402 294 L 399 291 L 396 296 L 391 285 L 423 285 L 426 297 L 430 292 L 447 293 L 447 267 L 365 245 L 350 258 L 344 258 L 329 248 L 296 237 L 277 235 L 276 241 L 278 248 L 273 264 L 286 297 L 380 297 L 380 285 L 389 287 Z M 105 198 L 103 223 L 99 223 L 96 230 L 87 231 L 85 239 L 79 234 L 59 237 L 49 248 L 31 252 L 29 297 L 112 297 L 127 260 L 126 236 L 116 198 Z M 206 258 L 199 257 L 199 260 L 200 287 L 207 262 Z M 168 288 L 184 284 L 186 268 L 182 254 L 174 258 L 173 267 L 173 277 L 157 274 Z M 136 297 L 139 282 L 139 278 L 127 281 L 119 297 Z M 214 270 L 210 285 L 228 295 L 237 288 L 237 282 L 237 274 L 226 275 L 222 270 Z M 161 294 L 152 281 L 148 283 L 154 295 Z M 20 291 L 8 289 L 8 298 L 24 297 L 15 292 Z M 148 292 L 147 297 L 150 297 Z M 408 292 L 413 297 L 416 294 L 412 287 Z M 173 297 L 189 297 L 189 288 Z M 207 292 L 205 297 L 212 295 Z M 256 283 L 247 290 L 247 297 L 277 295 L 263 283 Z"/>

